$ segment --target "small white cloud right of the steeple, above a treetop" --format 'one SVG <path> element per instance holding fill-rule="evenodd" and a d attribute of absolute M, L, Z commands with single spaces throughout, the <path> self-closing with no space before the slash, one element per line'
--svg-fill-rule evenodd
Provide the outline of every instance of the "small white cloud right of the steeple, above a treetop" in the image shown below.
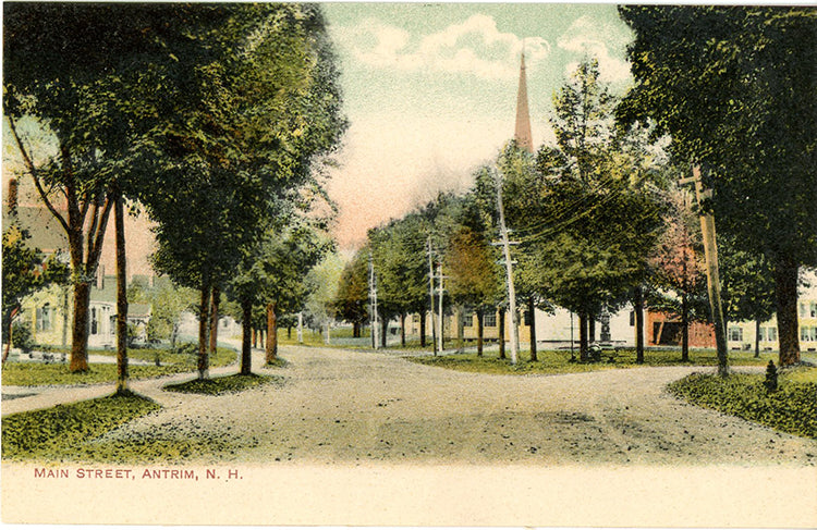
<path fill-rule="evenodd" d="M 600 79 L 618 83 L 630 78 L 630 64 L 613 56 L 610 46 L 624 46 L 624 40 L 605 24 L 598 24 L 588 16 L 577 19 L 559 37 L 557 46 L 563 50 L 598 59 Z M 565 66 L 565 74 L 572 74 L 577 66 L 573 61 Z"/>

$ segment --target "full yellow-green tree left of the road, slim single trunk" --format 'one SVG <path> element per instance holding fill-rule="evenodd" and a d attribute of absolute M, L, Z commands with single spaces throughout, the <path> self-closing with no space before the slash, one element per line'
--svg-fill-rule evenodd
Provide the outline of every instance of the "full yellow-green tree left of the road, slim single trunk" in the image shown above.
<path fill-rule="evenodd" d="M 321 193 L 313 164 L 345 127 L 318 7 L 217 9 L 231 17 L 202 37 L 212 57 L 179 90 L 160 137 L 153 189 L 162 193 L 143 196 L 158 221 L 157 267 L 202 292 L 202 378 L 210 293 L 261 245 L 276 205 Z"/>

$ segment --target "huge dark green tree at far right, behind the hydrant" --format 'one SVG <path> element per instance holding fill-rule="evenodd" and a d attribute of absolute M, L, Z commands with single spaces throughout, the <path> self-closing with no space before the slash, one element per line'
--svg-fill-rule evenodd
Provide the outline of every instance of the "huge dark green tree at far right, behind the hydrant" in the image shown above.
<path fill-rule="evenodd" d="M 622 7 L 636 85 L 620 114 L 651 116 L 705 170 L 718 232 L 775 270 L 780 365 L 800 360 L 797 279 L 817 264 L 817 12 Z M 747 215 L 746 212 L 752 212 Z"/>

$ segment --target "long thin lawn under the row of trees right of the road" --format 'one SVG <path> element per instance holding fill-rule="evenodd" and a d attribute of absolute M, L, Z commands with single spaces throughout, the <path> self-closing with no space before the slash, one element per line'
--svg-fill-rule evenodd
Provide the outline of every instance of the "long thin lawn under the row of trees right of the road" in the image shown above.
<path fill-rule="evenodd" d="M 508 353 L 505 355 L 509 355 Z M 717 366 L 718 357 L 714 350 L 693 350 L 690 353 L 690 362 L 681 362 L 681 352 L 678 350 L 647 350 L 644 354 L 644 365 L 635 362 L 634 349 L 622 349 L 609 360 L 612 352 L 602 352 L 601 361 L 577 362 L 571 361 L 568 350 L 546 349 L 537 352 L 538 360 L 531 361 L 531 353 L 522 352 L 519 362 L 511 365 L 510 359 L 499 359 L 496 352 L 490 352 L 478 357 L 475 353 L 451 354 L 436 357 L 405 357 L 413 362 L 422 365 L 448 368 L 466 372 L 493 373 L 493 374 L 557 374 L 576 373 L 596 370 L 611 370 L 617 368 L 635 368 L 638 366 Z M 576 357 L 578 353 L 576 353 Z M 754 358 L 749 352 L 731 352 L 729 362 L 733 366 L 765 366 L 769 359 L 777 360 L 777 354 L 761 354 Z"/>

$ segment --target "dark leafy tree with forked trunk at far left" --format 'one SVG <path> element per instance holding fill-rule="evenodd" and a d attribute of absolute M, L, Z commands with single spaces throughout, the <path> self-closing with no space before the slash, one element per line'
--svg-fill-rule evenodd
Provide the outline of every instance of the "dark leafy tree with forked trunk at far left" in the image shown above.
<path fill-rule="evenodd" d="M 145 96 L 159 91 L 159 72 L 171 61 L 168 19 L 182 8 L 10 3 L 3 9 L 3 109 L 25 170 L 68 236 L 71 370 L 85 371 L 90 281 L 114 186 L 123 184 L 131 150 L 153 126 L 155 106 Z M 24 120 L 50 138 L 27 141 L 17 126 Z"/>

